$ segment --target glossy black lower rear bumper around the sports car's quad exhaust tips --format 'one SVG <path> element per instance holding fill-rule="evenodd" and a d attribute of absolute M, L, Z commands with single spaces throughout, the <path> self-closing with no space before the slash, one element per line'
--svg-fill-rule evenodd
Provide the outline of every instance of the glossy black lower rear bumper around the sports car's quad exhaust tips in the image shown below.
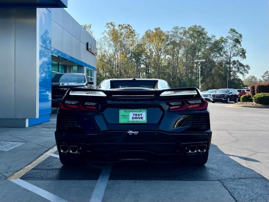
<path fill-rule="evenodd" d="M 212 132 L 165 133 L 160 131 L 107 131 L 99 134 L 61 134 L 55 132 L 58 151 L 61 155 L 78 156 L 91 162 L 117 162 L 125 160 L 146 160 L 154 162 L 176 162 L 188 155 L 204 155 L 208 152 Z M 61 145 L 68 147 L 62 152 Z M 206 145 L 205 151 L 198 151 L 199 145 Z M 70 146 L 76 146 L 77 153 L 70 153 Z M 190 146 L 197 146 L 190 152 Z"/>

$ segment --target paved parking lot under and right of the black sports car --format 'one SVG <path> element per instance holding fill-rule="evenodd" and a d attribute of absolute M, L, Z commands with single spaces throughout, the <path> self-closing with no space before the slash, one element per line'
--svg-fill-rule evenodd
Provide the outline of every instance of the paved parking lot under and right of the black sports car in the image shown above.
<path fill-rule="evenodd" d="M 229 106 L 209 103 L 213 135 L 205 166 L 66 167 L 55 152 L 19 179 L 2 180 L 0 201 L 269 201 L 269 109 Z"/>

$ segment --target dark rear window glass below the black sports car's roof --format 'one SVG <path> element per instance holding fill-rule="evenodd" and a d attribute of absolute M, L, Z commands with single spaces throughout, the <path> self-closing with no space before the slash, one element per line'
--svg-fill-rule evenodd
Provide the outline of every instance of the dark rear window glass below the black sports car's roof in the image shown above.
<path fill-rule="evenodd" d="M 110 88 L 156 88 L 157 80 L 111 80 Z"/>

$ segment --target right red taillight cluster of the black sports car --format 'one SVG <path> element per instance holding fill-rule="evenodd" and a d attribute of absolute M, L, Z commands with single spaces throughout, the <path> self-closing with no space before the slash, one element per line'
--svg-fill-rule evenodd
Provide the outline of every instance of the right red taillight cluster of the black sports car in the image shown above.
<path fill-rule="evenodd" d="M 195 110 L 205 110 L 208 106 L 206 100 L 188 100 L 181 102 L 180 105 L 174 106 L 172 103 L 169 103 L 170 108 L 169 111 L 195 111 Z"/>

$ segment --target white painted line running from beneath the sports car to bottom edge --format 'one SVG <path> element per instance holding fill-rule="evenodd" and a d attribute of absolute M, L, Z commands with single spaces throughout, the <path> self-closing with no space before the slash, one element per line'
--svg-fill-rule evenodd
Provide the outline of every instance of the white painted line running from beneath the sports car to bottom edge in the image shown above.
<path fill-rule="evenodd" d="M 104 197 L 105 190 L 106 190 L 108 178 L 110 176 L 111 169 L 112 169 L 112 164 L 105 165 L 104 169 L 102 170 L 102 172 L 97 180 L 95 188 L 92 192 L 90 202 L 101 202 L 102 201 L 102 199 Z"/>

